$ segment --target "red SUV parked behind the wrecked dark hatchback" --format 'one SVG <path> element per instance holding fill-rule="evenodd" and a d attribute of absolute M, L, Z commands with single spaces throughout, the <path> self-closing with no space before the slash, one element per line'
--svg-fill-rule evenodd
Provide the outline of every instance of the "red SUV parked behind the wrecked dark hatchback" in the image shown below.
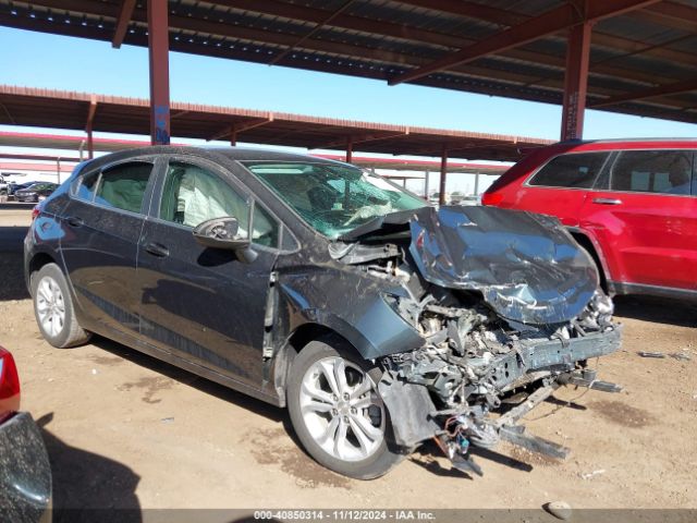
<path fill-rule="evenodd" d="M 615 294 L 697 297 L 697 139 L 563 142 L 536 149 L 484 205 L 558 217 Z"/>

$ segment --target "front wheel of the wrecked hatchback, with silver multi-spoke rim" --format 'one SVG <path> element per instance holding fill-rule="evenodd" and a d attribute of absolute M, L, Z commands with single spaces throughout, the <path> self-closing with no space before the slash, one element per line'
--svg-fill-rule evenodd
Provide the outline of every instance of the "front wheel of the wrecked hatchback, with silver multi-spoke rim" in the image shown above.
<path fill-rule="evenodd" d="M 391 442 L 390 416 L 377 387 L 381 370 L 354 352 L 338 337 L 308 343 L 291 367 L 288 408 L 298 439 L 318 463 L 372 479 L 405 453 Z"/>

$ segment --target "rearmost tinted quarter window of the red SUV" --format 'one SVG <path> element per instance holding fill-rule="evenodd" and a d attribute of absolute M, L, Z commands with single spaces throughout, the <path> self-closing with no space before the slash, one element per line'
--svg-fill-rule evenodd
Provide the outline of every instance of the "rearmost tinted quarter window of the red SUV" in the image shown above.
<path fill-rule="evenodd" d="M 528 182 L 548 187 L 590 188 L 608 153 L 578 153 L 552 158 Z"/>

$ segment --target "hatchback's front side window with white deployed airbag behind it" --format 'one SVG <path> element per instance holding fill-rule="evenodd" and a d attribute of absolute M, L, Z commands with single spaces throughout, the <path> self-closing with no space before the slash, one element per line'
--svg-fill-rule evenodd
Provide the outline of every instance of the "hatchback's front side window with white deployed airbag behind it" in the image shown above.
<path fill-rule="evenodd" d="M 213 219 L 232 217 L 240 226 L 243 238 L 249 231 L 249 203 L 220 177 L 191 163 L 171 161 L 162 198 L 160 218 L 173 223 L 195 228 Z M 278 246 L 278 226 L 260 207 L 254 209 L 252 242 L 270 247 Z"/>

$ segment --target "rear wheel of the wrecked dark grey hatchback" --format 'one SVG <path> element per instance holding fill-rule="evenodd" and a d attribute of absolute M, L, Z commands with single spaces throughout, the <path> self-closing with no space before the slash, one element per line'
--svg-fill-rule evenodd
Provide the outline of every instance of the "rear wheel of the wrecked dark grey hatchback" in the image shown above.
<path fill-rule="evenodd" d="M 91 333 L 75 317 L 75 307 L 63 272 L 56 264 L 47 264 L 32 275 L 34 316 L 41 336 L 59 349 L 85 343 Z"/>

